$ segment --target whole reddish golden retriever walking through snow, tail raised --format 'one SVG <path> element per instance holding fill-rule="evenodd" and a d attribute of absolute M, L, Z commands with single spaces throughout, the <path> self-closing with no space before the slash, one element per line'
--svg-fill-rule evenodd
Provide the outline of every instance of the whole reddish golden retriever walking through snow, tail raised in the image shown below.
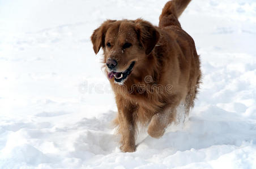
<path fill-rule="evenodd" d="M 189 2 L 167 2 L 158 26 L 143 19 L 106 20 L 91 36 L 95 53 L 104 51 L 122 152 L 136 150 L 139 123 L 148 127 L 148 135 L 159 138 L 175 121 L 178 105 L 184 104 L 186 114 L 194 105 L 200 61 L 193 39 L 178 21 Z"/>

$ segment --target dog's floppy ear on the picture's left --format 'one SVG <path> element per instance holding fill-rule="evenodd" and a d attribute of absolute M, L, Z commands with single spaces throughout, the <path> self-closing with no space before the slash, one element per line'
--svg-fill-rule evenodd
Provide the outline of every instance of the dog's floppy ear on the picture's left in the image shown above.
<path fill-rule="evenodd" d="M 105 33 L 109 28 L 109 23 L 113 23 L 116 20 L 106 20 L 101 26 L 93 31 L 91 41 L 95 54 L 100 51 L 100 47 L 104 47 L 105 44 Z"/>

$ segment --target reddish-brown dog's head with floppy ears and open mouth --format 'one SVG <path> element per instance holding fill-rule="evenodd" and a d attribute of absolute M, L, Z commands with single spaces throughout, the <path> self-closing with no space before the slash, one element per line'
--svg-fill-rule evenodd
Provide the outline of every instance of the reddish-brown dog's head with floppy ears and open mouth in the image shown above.
<path fill-rule="evenodd" d="M 159 40 L 159 32 L 142 19 L 107 20 L 94 30 L 91 40 L 97 54 L 104 51 L 104 66 L 109 79 L 125 82 L 133 70 L 145 65 L 148 55 Z"/>

